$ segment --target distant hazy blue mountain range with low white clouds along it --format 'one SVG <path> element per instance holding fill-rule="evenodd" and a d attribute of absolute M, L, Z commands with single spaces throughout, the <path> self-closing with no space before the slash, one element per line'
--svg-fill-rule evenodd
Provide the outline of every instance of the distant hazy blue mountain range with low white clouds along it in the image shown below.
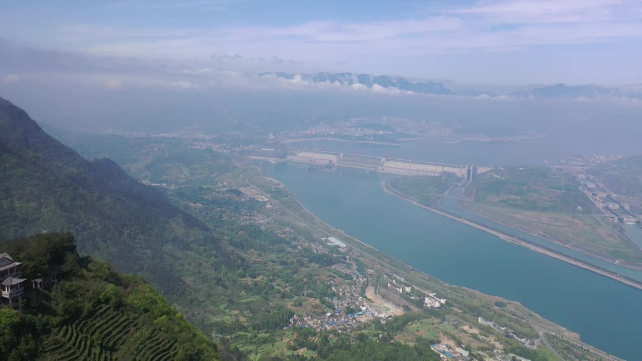
<path fill-rule="evenodd" d="M 442 82 L 421 82 L 411 81 L 406 78 L 386 75 L 369 75 L 354 73 L 263 73 L 260 76 L 275 75 L 279 78 L 306 82 L 327 82 L 338 83 L 346 86 L 363 85 L 365 87 L 383 87 L 386 89 L 396 88 L 401 91 L 419 92 L 422 94 L 435 95 L 460 95 L 460 96 L 510 96 L 512 98 L 535 98 L 535 99 L 572 99 L 572 98 L 598 98 L 598 97 L 628 97 L 642 99 L 642 84 L 625 85 L 623 87 L 600 87 L 598 85 L 566 86 L 564 84 L 535 87 L 530 90 L 514 91 L 501 94 L 499 92 L 487 91 L 485 89 L 451 90 Z"/>

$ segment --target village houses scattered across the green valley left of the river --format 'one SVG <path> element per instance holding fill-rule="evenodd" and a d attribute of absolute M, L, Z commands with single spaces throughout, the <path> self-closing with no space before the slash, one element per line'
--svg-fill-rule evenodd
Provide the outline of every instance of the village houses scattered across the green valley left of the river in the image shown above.
<path fill-rule="evenodd" d="M 370 328 L 374 322 L 385 325 L 394 317 L 405 313 L 421 312 L 422 309 L 439 312 L 438 314 L 448 313 L 447 309 L 450 305 L 447 297 L 438 292 L 422 289 L 412 282 L 406 281 L 399 274 L 382 273 L 381 270 L 363 269 L 363 267 L 358 270 L 356 261 L 351 258 L 352 247 L 338 238 L 340 234 L 318 236 L 318 238 L 311 240 L 302 237 L 292 238 L 293 229 L 275 222 L 272 217 L 281 218 L 286 216 L 288 212 L 270 192 L 263 193 L 256 188 L 230 187 L 226 182 L 221 182 L 218 186 L 221 188 L 216 191 L 223 197 L 234 197 L 247 201 L 256 200 L 263 204 L 255 211 L 241 216 L 239 219 L 241 223 L 270 228 L 279 236 L 291 239 L 293 251 L 299 257 L 307 259 L 309 257 L 306 256 L 307 254 L 324 254 L 334 260 L 332 265 L 323 267 L 324 273 L 327 275 L 323 276 L 322 282 L 327 287 L 330 296 L 325 297 L 326 299 L 316 307 L 293 309 L 295 312 L 282 326 L 282 330 L 296 333 L 300 329 L 309 329 L 317 332 L 352 334 Z M 277 191 L 277 193 L 279 192 Z M 261 208 L 264 210 L 261 211 Z M 486 321 L 482 317 L 479 317 L 478 320 L 481 320 L 479 322 L 483 326 L 492 328 L 493 333 L 516 340 L 526 348 L 536 348 L 537 342 L 521 337 L 509 328 L 492 321 Z M 446 322 L 446 324 L 448 323 Z M 451 321 L 451 323 L 454 326 L 457 321 Z M 469 327 L 469 330 L 473 332 L 474 328 Z M 496 344 L 492 336 L 485 338 L 485 340 Z M 482 357 L 483 360 L 530 361 L 517 355 L 506 354 L 499 345 L 492 350 L 485 351 L 467 348 L 462 344 L 453 344 L 452 342 L 438 342 L 431 346 L 431 349 L 438 353 L 444 361 L 470 360 L 471 352 Z"/>

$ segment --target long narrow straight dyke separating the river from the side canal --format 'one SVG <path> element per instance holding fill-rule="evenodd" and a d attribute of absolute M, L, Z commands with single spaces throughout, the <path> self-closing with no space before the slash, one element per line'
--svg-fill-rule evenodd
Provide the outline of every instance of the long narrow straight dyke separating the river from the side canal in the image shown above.
<path fill-rule="evenodd" d="M 501 231 L 498 231 L 496 229 L 492 229 L 490 227 L 487 227 L 485 225 L 480 225 L 480 224 L 475 224 L 474 222 L 470 222 L 469 220 L 466 220 L 465 218 L 459 217 L 452 215 L 451 213 L 448 213 L 447 211 L 442 211 L 440 209 L 436 209 L 433 207 L 428 207 L 424 206 L 423 204 L 419 204 L 415 198 L 412 198 L 408 195 L 404 195 L 403 193 L 395 190 L 388 184 L 387 180 L 383 180 L 381 182 L 381 188 L 383 191 L 386 193 L 397 197 L 401 200 L 404 200 L 410 204 L 413 204 L 414 206 L 426 209 L 428 211 L 431 211 L 433 213 L 437 213 L 440 216 L 445 216 L 446 218 L 450 218 L 451 220 L 455 220 L 457 222 L 460 222 L 465 225 L 469 225 L 471 227 L 474 227 L 476 229 L 479 229 L 480 231 L 484 231 L 486 233 L 492 234 L 501 240 L 504 240 L 505 242 L 508 243 L 513 243 L 516 245 L 520 245 L 522 247 L 525 247 L 527 249 L 530 249 L 531 251 L 539 252 L 542 254 L 546 254 L 546 256 L 550 256 L 552 258 L 555 258 L 560 261 L 564 261 L 566 263 L 569 263 L 570 265 L 580 267 L 582 269 L 589 270 L 591 272 L 594 272 L 596 274 L 599 274 L 600 276 L 604 277 L 609 277 L 611 279 L 614 279 L 615 281 L 619 281 L 627 286 L 631 286 L 633 288 L 637 288 L 638 290 L 642 290 L 642 282 L 636 281 L 634 279 L 630 279 L 629 277 L 626 276 L 621 276 L 620 274 L 616 274 L 615 272 L 612 272 L 610 270 L 602 269 L 601 267 L 598 267 L 596 265 L 591 265 L 590 263 L 587 263 L 582 260 L 578 260 L 577 258 L 573 258 L 571 256 L 566 256 L 566 254 L 562 254 L 557 251 L 553 251 L 552 249 L 548 249 L 542 245 L 538 245 L 536 243 L 528 242 L 526 240 L 522 240 L 517 237 L 509 236 L 508 234 L 502 233 Z"/>

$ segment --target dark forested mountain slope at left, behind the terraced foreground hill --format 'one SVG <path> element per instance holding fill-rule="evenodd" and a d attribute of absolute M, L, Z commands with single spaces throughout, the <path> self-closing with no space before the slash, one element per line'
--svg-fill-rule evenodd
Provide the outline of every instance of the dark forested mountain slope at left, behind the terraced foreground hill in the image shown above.
<path fill-rule="evenodd" d="M 0 98 L 0 240 L 46 231 L 73 232 L 81 253 L 177 294 L 183 282 L 159 261 L 164 249 L 220 244 L 161 191 L 109 159 L 87 161 Z"/>

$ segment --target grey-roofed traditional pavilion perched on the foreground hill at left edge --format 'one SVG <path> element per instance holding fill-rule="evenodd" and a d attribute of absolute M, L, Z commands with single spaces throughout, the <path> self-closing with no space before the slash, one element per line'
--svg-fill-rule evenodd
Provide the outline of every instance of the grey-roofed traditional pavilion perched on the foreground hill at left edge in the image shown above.
<path fill-rule="evenodd" d="M 0 304 L 16 304 L 24 295 L 27 279 L 22 277 L 20 265 L 22 262 L 13 260 L 7 252 L 0 253 Z M 29 289 L 43 288 L 53 282 L 60 273 L 59 268 L 51 269 L 50 276 L 46 279 L 32 279 Z"/>

